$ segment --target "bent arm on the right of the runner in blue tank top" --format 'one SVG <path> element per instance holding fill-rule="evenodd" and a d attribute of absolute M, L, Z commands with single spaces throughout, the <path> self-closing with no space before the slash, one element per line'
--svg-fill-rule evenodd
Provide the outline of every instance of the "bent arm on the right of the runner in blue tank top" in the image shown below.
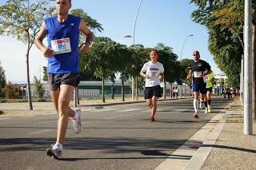
<path fill-rule="evenodd" d="M 89 51 L 90 49 L 90 44 L 94 40 L 94 35 L 90 32 L 88 27 L 86 26 L 86 22 L 81 19 L 80 24 L 79 24 L 79 30 L 86 36 L 86 42 L 83 42 L 81 45 L 80 50 L 81 51 Z"/>

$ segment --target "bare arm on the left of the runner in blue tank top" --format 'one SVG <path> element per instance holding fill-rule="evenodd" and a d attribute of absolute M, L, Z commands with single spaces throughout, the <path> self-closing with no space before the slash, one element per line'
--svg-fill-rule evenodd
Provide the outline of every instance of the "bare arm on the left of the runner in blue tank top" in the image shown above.
<path fill-rule="evenodd" d="M 46 25 L 42 23 L 41 29 L 38 32 L 38 36 L 35 38 L 35 45 L 40 49 L 45 57 L 54 56 L 54 49 L 49 49 L 42 44 L 43 38 L 46 37 Z"/>

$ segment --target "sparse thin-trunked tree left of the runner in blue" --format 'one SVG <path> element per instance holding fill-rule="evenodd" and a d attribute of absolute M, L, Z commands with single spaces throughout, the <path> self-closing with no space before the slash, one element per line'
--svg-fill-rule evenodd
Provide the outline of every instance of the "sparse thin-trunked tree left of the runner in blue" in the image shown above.
<path fill-rule="evenodd" d="M 33 109 L 30 91 L 30 49 L 42 19 L 53 14 L 54 8 L 49 8 L 47 0 L 8 0 L 0 6 L 0 34 L 13 36 L 26 45 L 26 83 L 30 110 Z"/>

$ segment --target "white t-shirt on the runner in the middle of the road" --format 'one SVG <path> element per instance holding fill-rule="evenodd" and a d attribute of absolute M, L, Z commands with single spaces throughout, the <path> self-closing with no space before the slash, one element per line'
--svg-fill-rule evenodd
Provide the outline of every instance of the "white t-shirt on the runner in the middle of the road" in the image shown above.
<path fill-rule="evenodd" d="M 142 72 L 145 72 L 147 76 L 150 76 L 150 78 L 146 78 L 145 87 L 153 87 L 156 85 L 160 85 L 160 81 L 158 77 L 160 73 L 164 72 L 164 68 L 162 63 L 158 61 L 156 63 L 152 63 L 152 61 L 148 61 L 143 65 Z"/>

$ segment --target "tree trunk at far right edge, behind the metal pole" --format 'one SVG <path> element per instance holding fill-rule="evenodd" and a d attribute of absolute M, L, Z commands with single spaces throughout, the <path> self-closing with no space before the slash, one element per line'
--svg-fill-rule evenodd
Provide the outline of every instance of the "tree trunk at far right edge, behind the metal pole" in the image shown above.
<path fill-rule="evenodd" d="M 256 90 L 255 90 L 255 83 L 256 83 L 256 74 L 255 74 L 255 64 L 256 64 L 256 57 L 255 57 L 255 45 L 256 45 L 256 30 L 255 26 L 253 26 L 253 34 L 252 34 L 252 55 L 251 55 L 251 61 L 252 61 L 252 115 L 254 117 L 254 121 L 256 121 L 256 100 L 255 100 L 255 95 L 256 95 Z"/>

